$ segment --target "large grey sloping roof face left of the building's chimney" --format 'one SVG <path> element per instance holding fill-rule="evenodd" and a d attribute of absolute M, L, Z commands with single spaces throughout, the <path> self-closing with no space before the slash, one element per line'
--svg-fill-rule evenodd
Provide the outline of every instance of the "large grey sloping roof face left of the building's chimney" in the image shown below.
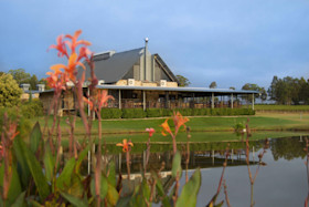
<path fill-rule="evenodd" d="M 121 80 L 127 72 L 139 60 L 143 48 L 118 52 L 113 54 L 109 59 L 100 59 L 99 55 L 94 55 L 95 74 L 98 80 L 104 80 L 105 83 L 116 83 Z M 90 76 L 89 66 L 86 65 L 86 79 Z"/>

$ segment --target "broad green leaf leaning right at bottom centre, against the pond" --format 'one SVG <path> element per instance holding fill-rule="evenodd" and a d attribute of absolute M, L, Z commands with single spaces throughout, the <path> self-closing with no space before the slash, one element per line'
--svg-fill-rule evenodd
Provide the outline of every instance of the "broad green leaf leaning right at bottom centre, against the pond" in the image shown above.
<path fill-rule="evenodd" d="M 198 168 L 191 176 L 190 180 L 183 186 L 180 197 L 178 198 L 175 206 L 196 206 L 196 198 L 201 187 L 201 170 Z"/>

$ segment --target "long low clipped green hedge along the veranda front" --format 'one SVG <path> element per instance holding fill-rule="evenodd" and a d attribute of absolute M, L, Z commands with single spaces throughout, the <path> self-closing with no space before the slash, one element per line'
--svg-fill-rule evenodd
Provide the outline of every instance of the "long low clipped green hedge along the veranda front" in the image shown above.
<path fill-rule="evenodd" d="M 102 118 L 142 118 L 171 116 L 173 112 L 180 112 L 183 116 L 231 116 L 255 115 L 252 108 L 103 108 Z"/>

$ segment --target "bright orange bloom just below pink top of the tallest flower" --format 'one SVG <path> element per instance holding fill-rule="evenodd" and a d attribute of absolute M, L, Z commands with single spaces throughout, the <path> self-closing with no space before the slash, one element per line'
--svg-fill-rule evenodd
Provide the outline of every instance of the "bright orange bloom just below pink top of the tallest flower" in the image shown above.
<path fill-rule="evenodd" d="M 68 77 L 72 81 L 75 81 L 75 79 L 76 79 L 76 66 L 77 65 L 81 65 L 84 70 L 86 69 L 83 63 L 77 61 L 77 54 L 76 53 L 72 53 L 70 59 L 68 59 L 67 65 L 55 64 L 55 65 L 51 66 L 51 70 L 60 71 L 61 69 L 64 69 L 65 73 L 68 74 Z"/>

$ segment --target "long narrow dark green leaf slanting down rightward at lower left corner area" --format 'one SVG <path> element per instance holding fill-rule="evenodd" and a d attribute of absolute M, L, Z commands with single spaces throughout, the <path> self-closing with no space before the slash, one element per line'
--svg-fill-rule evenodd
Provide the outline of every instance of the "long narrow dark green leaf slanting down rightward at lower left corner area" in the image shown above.
<path fill-rule="evenodd" d="M 29 151 L 25 143 L 21 138 L 17 138 L 15 142 L 19 145 L 24 159 L 26 161 L 28 167 L 38 188 L 40 198 L 44 200 L 50 195 L 51 190 L 46 177 L 43 174 L 42 167 L 40 166 L 40 163 L 38 162 L 34 154 Z"/>

